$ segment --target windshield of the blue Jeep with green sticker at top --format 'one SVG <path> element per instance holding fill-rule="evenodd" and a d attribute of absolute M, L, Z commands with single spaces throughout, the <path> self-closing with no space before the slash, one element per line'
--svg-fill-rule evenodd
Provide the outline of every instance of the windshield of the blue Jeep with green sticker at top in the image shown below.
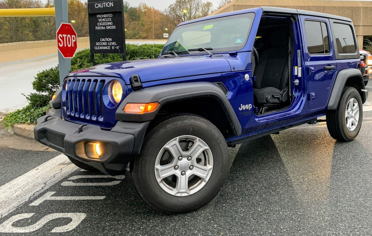
<path fill-rule="evenodd" d="M 178 26 L 169 37 L 161 54 L 199 54 L 187 51 L 206 48 L 211 52 L 241 50 L 247 43 L 254 13 L 225 16 Z"/>

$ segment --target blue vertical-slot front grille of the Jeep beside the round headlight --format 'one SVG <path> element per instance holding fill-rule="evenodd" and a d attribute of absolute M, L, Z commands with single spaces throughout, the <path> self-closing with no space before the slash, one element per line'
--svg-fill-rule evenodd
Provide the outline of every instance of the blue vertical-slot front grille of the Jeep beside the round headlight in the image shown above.
<path fill-rule="evenodd" d="M 103 118 L 104 79 L 68 79 L 66 114 L 69 117 L 98 120 Z"/>

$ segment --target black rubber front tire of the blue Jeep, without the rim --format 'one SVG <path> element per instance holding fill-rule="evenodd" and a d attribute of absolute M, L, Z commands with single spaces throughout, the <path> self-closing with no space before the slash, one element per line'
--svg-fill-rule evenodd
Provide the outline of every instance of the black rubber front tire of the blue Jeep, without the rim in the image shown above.
<path fill-rule="evenodd" d="M 164 191 L 155 177 L 155 160 L 162 147 L 173 138 L 193 135 L 203 140 L 212 152 L 213 169 L 209 180 L 197 192 L 179 197 Z M 166 214 L 195 210 L 214 198 L 225 182 L 228 167 L 227 144 L 215 125 L 193 114 L 164 120 L 145 137 L 140 157 L 134 160 L 132 180 L 148 205 Z"/>

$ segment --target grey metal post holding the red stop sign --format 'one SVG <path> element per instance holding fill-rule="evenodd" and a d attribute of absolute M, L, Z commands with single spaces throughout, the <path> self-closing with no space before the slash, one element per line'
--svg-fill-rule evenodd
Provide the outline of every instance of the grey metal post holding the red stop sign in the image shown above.
<path fill-rule="evenodd" d="M 58 30 L 61 23 L 68 23 L 67 0 L 54 0 L 54 7 L 55 27 Z M 62 86 L 66 74 L 70 73 L 71 59 L 63 58 L 60 51 L 58 51 L 58 67 L 60 69 L 60 86 Z"/>

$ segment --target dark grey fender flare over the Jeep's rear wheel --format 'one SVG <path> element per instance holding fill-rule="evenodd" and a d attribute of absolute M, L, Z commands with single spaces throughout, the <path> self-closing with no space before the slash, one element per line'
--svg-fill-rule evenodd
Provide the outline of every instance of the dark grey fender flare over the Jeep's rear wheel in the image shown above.
<path fill-rule="evenodd" d="M 331 95 L 328 101 L 328 110 L 334 110 L 337 108 L 337 105 L 339 104 L 341 93 L 343 91 L 343 87 L 346 84 L 347 79 L 350 77 L 359 77 L 360 83 L 362 84 L 362 90 L 364 89 L 364 83 L 363 83 L 363 76 L 362 72 L 360 70 L 355 68 L 348 68 L 344 70 L 340 70 L 339 73 L 337 73 L 336 79 L 334 80 Z M 362 91 L 358 91 L 361 93 Z M 362 97 L 363 100 L 363 97 Z M 364 103 L 365 101 L 363 101 Z"/>

